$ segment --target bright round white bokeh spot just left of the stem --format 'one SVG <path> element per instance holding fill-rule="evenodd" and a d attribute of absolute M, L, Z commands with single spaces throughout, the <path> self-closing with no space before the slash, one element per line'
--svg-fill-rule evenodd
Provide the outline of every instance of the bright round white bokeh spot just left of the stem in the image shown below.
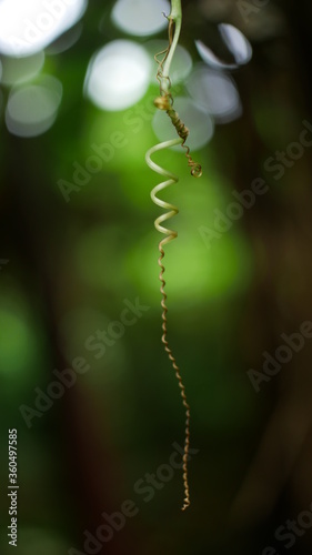
<path fill-rule="evenodd" d="M 102 110 L 124 110 L 145 94 L 150 77 L 151 60 L 144 48 L 129 40 L 115 40 L 91 59 L 84 94 Z"/>

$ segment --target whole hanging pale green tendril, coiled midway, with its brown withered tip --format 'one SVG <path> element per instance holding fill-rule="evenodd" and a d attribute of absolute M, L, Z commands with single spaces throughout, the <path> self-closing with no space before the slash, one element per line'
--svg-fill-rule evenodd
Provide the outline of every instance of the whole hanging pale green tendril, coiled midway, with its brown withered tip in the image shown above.
<path fill-rule="evenodd" d="M 165 202 L 161 199 L 158 198 L 158 193 L 160 191 L 163 191 L 168 186 L 178 183 L 179 179 L 177 175 L 173 173 L 167 171 L 165 169 L 161 168 L 160 165 L 155 164 L 152 160 L 151 157 L 161 150 L 164 149 L 170 149 L 171 147 L 175 147 L 177 144 L 181 144 L 184 150 L 185 150 L 185 155 L 188 159 L 188 164 L 191 168 L 191 174 L 194 178 L 200 178 L 202 174 L 202 169 L 201 165 L 197 162 L 193 161 L 192 157 L 190 155 L 190 149 L 188 145 L 185 145 L 185 141 L 189 137 L 189 129 L 187 125 L 181 121 L 179 118 L 178 112 L 173 108 L 173 99 L 172 94 L 170 92 L 171 88 L 171 81 L 169 77 L 169 69 L 170 69 L 170 63 L 172 56 L 174 53 L 178 40 L 179 40 L 179 34 L 180 34 L 180 28 L 181 28 L 181 2 L 178 1 L 172 1 L 172 10 L 171 14 L 167 18 L 169 21 L 169 44 L 165 50 L 162 50 L 158 54 L 155 54 L 154 59 L 155 62 L 158 63 L 158 72 L 157 72 L 157 79 L 160 83 L 160 95 L 154 100 L 154 104 L 159 110 L 164 110 L 169 118 L 171 119 L 171 122 L 173 127 L 175 128 L 175 131 L 178 133 L 179 139 L 173 139 L 171 141 L 165 141 L 160 144 L 157 144 L 155 147 L 151 148 L 145 155 L 147 163 L 148 165 L 157 173 L 165 178 L 165 181 L 162 183 L 158 184 L 151 192 L 151 198 L 152 201 L 160 206 L 161 209 L 167 210 L 164 214 L 161 214 L 159 218 L 157 218 L 154 222 L 155 229 L 165 235 L 164 239 L 162 239 L 159 243 L 159 252 L 160 256 L 158 259 L 158 264 L 160 266 L 160 274 L 159 279 L 161 282 L 161 287 L 160 292 L 162 294 L 162 300 L 161 300 L 161 306 L 162 306 L 162 343 L 164 344 L 164 350 L 168 353 L 169 360 L 172 363 L 172 367 L 175 372 L 175 376 L 179 383 L 181 396 L 182 396 L 182 402 L 185 408 L 185 441 L 184 441 L 184 453 L 183 453 L 183 485 L 184 485 L 184 502 L 182 506 L 182 511 L 184 511 L 189 505 L 190 505 L 190 493 L 189 493 L 189 480 L 188 480 L 188 460 L 189 460 L 189 446 L 190 446 L 190 405 L 187 400 L 185 395 L 185 387 L 181 377 L 180 369 L 177 364 L 177 361 L 172 354 L 172 351 L 169 346 L 168 339 L 167 339 L 167 313 L 168 313 L 168 307 L 167 307 L 167 294 L 164 291 L 165 287 L 165 281 L 163 279 L 164 274 L 164 265 L 163 265 L 163 258 L 164 258 L 164 250 L 163 246 L 175 239 L 178 236 L 178 233 L 173 230 L 167 229 L 162 225 L 163 222 L 167 220 L 170 220 L 174 215 L 179 213 L 179 210 L 177 206 L 173 204 L 170 204 L 169 202 Z M 175 21 L 177 26 L 175 26 Z M 165 64 L 165 69 L 164 69 Z"/>

